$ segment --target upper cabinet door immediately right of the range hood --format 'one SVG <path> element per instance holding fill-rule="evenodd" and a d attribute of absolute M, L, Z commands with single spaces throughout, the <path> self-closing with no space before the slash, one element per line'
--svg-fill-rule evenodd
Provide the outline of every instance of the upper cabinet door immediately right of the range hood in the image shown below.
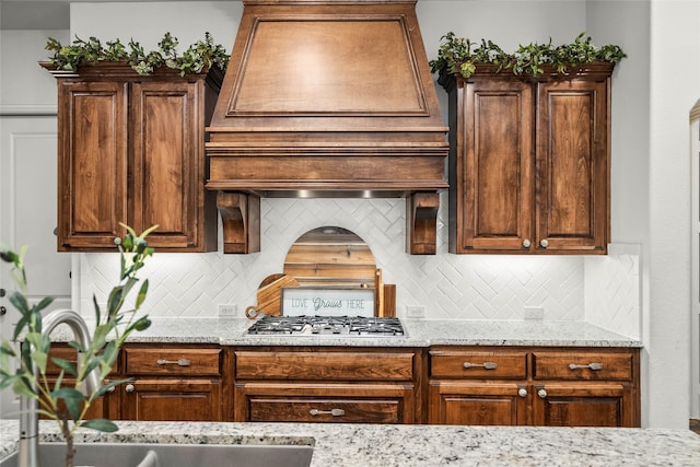
<path fill-rule="evenodd" d="M 533 203 L 533 90 L 525 82 L 465 85 L 458 144 L 460 250 L 521 250 L 529 242 Z M 464 135 L 464 137 L 463 137 Z"/>

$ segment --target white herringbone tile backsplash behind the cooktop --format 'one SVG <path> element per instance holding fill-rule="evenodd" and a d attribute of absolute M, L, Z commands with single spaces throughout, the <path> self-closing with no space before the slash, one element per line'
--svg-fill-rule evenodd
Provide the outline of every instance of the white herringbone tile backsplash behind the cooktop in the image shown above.
<path fill-rule="evenodd" d="M 299 236 L 322 225 L 338 225 L 370 245 L 384 282 L 397 285 L 399 316 L 406 305 L 421 304 L 427 318 L 522 319 L 525 306 L 542 306 L 547 320 L 593 316 L 600 324 L 612 313 L 614 326 L 605 327 L 637 331 L 630 315 L 639 315 L 639 256 L 452 255 L 446 206 L 443 194 L 438 254 L 411 256 L 405 250 L 404 199 L 262 199 L 260 253 L 156 250 L 142 273 L 151 282 L 148 313 L 215 316 L 219 303 L 234 303 L 242 313 L 256 304 L 260 281 L 282 272 L 287 252 Z M 105 300 L 117 268 L 116 254 L 81 254 L 83 313 L 90 313 L 93 293 Z"/>

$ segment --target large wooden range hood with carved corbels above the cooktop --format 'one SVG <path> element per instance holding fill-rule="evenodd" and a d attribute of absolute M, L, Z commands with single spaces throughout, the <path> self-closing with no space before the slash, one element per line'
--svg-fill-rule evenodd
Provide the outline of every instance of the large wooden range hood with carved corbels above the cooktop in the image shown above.
<path fill-rule="evenodd" d="M 260 197 L 406 197 L 435 254 L 448 143 L 416 0 L 243 0 L 206 153 L 224 253 L 260 247 Z"/>

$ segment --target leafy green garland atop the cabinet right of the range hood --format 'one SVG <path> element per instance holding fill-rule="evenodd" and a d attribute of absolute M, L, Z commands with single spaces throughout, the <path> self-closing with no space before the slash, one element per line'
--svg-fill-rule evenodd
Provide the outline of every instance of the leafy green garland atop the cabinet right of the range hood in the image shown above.
<path fill-rule="evenodd" d="M 430 61 L 433 73 L 457 74 L 470 78 L 477 67 L 489 67 L 495 73 L 510 71 L 516 75 L 537 78 L 551 70 L 558 74 L 568 74 L 576 68 L 593 62 L 618 63 L 627 55 L 619 46 L 596 47 L 590 36 L 581 33 L 573 43 L 553 46 L 551 38 L 547 44 L 530 43 L 521 45 L 512 54 L 505 52 L 491 40 L 472 43 L 468 38 L 457 37 L 450 32 L 442 36 L 438 58 Z"/>

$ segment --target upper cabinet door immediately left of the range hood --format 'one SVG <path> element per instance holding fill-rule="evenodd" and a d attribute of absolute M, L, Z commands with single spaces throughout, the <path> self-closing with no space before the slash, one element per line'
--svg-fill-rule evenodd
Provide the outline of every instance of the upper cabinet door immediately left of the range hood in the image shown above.
<path fill-rule="evenodd" d="M 142 82 L 132 87 L 133 218 L 137 232 L 159 227 L 149 243 L 196 245 L 203 151 L 197 129 L 197 83 Z"/>

